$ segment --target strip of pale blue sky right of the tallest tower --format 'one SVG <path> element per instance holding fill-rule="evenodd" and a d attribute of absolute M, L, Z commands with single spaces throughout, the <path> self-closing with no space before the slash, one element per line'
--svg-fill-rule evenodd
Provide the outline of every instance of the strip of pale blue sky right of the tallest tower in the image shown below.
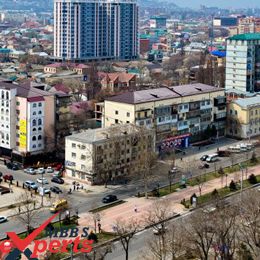
<path fill-rule="evenodd" d="M 200 5 L 223 8 L 260 7 L 260 0 L 173 0 L 180 7 L 199 7 Z"/>

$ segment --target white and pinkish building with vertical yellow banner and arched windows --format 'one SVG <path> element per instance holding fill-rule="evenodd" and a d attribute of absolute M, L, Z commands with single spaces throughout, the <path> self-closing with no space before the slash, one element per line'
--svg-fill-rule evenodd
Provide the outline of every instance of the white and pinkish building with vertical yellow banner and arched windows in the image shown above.
<path fill-rule="evenodd" d="M 21 160 L 53 151 L 55 98 L 31 87 L 0 82 L 0 150 Z"/>

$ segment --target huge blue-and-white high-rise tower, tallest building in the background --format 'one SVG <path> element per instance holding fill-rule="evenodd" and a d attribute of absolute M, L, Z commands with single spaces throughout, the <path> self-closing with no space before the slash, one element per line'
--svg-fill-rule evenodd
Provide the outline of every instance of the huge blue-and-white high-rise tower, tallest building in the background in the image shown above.
<path fill-rule="evenodd" d="M 138 56 L 136 0 L 54 0 L 59 60 L 132 60 Z"/>

